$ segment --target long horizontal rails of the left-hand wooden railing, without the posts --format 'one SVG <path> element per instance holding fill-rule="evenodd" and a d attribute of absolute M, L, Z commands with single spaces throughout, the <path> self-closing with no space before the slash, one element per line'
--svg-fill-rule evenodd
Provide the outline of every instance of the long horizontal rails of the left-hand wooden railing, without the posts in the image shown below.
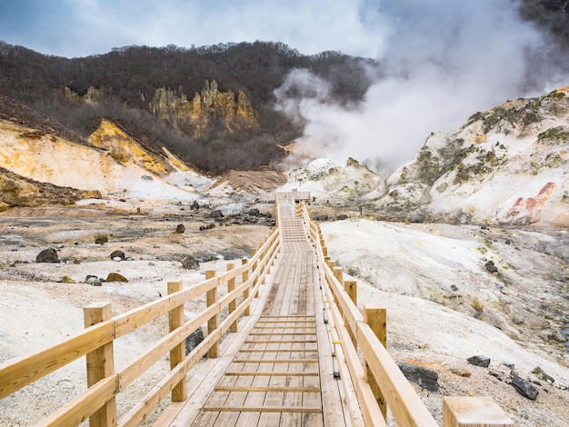
<path fill-rule="evenodd" d="M 269 266 L 275 262 L 281 243 L 279 237 L 280 229 L 275 228 L 265 243 L 260 244 L 251 261 L 244 260 L 248 261 L 247 263 L 208 278 L 204 282 L 192 285 L 187 289 L 170 293 L 159 300 L 116 315 L 104 322 L 96 323 L 81 333 L 76 333 L 71 338 L 56 343 L 45 350 L 16 357 L 0 364 L 0 398 L 17 392 L 26 385 L 45 377 L 45 375 L 64 367 L 85 354 L 91 354 L 103 346 L 113 343 L 116 338 L 134 331 L 145 323 L 168 313 L 180 313 L 180 309 L 185 303 L 227 284 L 228 292 L 224 297 L 210 304 L 193 319 L 175 326 L 170 333 L 158 340 L 145 353 L 137 355 L 135 360 L 125 366 L 121 372 L 110 373 L 101 381 L 95 382 L 85 392 L 63 404 L 58 411 L 39 423 L 39 425 L 46 426 L 76 425 L 99 411 L 107 402 L 114 403 L 115 396 L 124 391 L 128 384 L 134 382 L 136 378 L 173 349 L 184 345 L 187 336 L 214 316 L 222 313 L 226 307 L 229 308 L 229 304 L 232 303 L 232 311 L 223 322 L 216 324 L 215 329 L 210 331 L 205 340 L 186 355 L 181 362 L 178 362 L 170 373 L 158 382 L 143 400 L 135 403 L 130 412 L 127 412 L 123 419 L 118 422 L 118 425 L 140 424 L 167 397 L 176 384 L 185 381 L 185 376 L 190 369 L 205 353 L 219 343 L 231 325 L 236 324 L 240 316 L 247 315 L 251 303 L 255 300 L 255 294 L 258 294 L 259 286 L 265 282 L 265 275 L 268 273 Z M 255 269 L 254 265 L 256 265 Z M 246 279 L 242 280 L 239 285 L 235 285 L 235 279 L 240 276 Z M 234 289 L 229 290 L 230 282 L 233 283 Z M 240 303 L 237 303 L 240 295 L 243 295 L 244 298 Z M 105 423 L 105 425 L 111 424 Z"/>

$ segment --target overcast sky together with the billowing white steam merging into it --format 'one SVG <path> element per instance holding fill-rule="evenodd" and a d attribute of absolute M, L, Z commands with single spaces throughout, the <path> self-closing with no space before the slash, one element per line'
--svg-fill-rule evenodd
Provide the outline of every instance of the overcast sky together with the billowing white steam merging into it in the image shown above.
<path fill-rule="evenodd" d="M 316 91 L 320 98 L 279 100 L 284 111 L 307 122 L 303 141 L 311 150 L 393 170 L 411 160 L 431 132 L 452 131 L 471 114 L 507 99 L 569 84 L 569 65 L 560 63 L 566 55 L 554 55 L 547 38 L 519 19 L 516 5 L 517 0 L 0 0 L 0 40 L 66 57 L 127 45 L 262 40 L 283 42 L 304 55 L 334 50 L 378 59 L 384 78 L 356 110 L 326 102 L 325 82 Z M 305 84 L 319 83 L 302 71 L 286 82 L 301 89 Z"/>

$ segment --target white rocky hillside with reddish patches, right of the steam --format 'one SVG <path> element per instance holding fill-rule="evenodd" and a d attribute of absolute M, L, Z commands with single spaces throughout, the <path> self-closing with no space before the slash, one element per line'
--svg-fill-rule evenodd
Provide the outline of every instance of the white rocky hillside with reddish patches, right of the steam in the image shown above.
<path fill-rule="evenodd" d="M 569 87 L 431 134 L 376 207 L 411 221 L 569 226 Z"/>

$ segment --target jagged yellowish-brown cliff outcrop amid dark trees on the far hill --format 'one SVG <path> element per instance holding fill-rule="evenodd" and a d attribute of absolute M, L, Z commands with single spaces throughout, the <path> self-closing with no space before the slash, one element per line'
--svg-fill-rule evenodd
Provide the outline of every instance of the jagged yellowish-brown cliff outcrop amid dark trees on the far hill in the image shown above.
<path fill-rule="evenodd" d="M 199 137 L 213 125 L 221 122 L 227 132 L 255 130 L 259 127 L 255 111 L 243 91 L 235 99 L 232 91 L 220 92 L 215 80 L 205 81 L 201 93 L 188 100 L 182 88 L 174 91 L 156 89 L 150 103 L 153 114 L 172 123 L 176 129 L 189 125 L 194 137 Z"/>

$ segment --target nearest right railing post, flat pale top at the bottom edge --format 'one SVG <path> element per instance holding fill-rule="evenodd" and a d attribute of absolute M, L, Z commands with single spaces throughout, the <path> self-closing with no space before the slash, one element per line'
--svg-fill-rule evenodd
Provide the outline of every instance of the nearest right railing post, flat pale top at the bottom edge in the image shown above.
<path fill-rule="evenodd" d="M 491 397 L 443 398 L 443 427 L 505 427 L 514 422 Z"/>

